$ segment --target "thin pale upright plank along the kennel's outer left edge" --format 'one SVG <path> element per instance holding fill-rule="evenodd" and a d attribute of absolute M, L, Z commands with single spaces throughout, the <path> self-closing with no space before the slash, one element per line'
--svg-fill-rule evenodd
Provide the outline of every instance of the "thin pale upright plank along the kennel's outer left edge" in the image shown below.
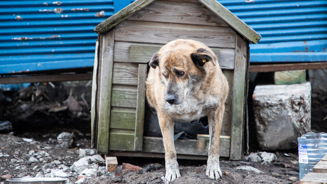
<path fill-rule="evenodd" d="M 96 53 L 94 57 L 94 67 L 93 67 L 93 77 L 92 77 L 92 93 L 91 93 L 92 94 L 91 96 L 91 144 L 92 145 L 94 145 L 95 126 L 96 126 L 98 48 L 99 48 L 99 40 L 96 41 Z"/>

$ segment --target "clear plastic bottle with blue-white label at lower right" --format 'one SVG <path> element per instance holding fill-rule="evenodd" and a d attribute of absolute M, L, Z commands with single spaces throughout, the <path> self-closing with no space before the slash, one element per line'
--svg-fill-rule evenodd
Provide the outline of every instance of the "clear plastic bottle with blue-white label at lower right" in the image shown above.
<path fill-rule="evenodd" d="M 297 138 L 300 179 L 327 154 L 327 133 L 309 132 Z"/>

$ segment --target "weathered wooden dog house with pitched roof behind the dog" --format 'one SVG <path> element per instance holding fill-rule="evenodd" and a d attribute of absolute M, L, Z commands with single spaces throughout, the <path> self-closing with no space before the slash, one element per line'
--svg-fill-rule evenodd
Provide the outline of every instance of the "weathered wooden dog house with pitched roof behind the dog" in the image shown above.
<path fill-rule="evenodd" d="M 241 159 L 249 42 L 261 36 L 216 0 L 137 0 L 99 24 L 92 83 L 92 144 L 102 154 L 164 157 L 162 137 L 144 135 L 148 62 L 169 41 L 206 44 L 229 82 L 220 156 Z M 178 158 L 206 159 L 208 135 L 176 140 Z"/>

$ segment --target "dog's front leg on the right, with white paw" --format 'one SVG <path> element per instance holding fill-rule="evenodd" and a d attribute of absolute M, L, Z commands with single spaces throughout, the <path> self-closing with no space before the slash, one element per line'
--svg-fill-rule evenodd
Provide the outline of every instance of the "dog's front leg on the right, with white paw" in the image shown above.
<path fill-rule="evenodd" d="M 222 173 L 219 166 L 219 137 L 224 111 L 225 106 L 222 105 L 212 113 L 208 114 L 210 141 L 205 174 L 211 179 L 219 179 L 222 177 Z"/>

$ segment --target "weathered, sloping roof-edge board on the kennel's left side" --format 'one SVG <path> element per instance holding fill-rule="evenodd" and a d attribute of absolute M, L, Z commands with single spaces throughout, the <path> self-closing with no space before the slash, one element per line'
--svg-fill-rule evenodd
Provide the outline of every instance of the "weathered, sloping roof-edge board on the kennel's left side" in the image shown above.
<path fill-rule="evenodd" d="M 124 9 L 122 9 L 121 11 L 113 14 L 109 18 L 102 21 L 100 24 L 97 25 L 94 31 L 101 35 L 106 34 L 108 31 L 113 29 L 120 22 L 134 15 L 136 12 L 148 6 L 154 1 L 155 0 L 135 1 L 132 4 L 128 5 L 127 7 L 125 7 Z"/>

